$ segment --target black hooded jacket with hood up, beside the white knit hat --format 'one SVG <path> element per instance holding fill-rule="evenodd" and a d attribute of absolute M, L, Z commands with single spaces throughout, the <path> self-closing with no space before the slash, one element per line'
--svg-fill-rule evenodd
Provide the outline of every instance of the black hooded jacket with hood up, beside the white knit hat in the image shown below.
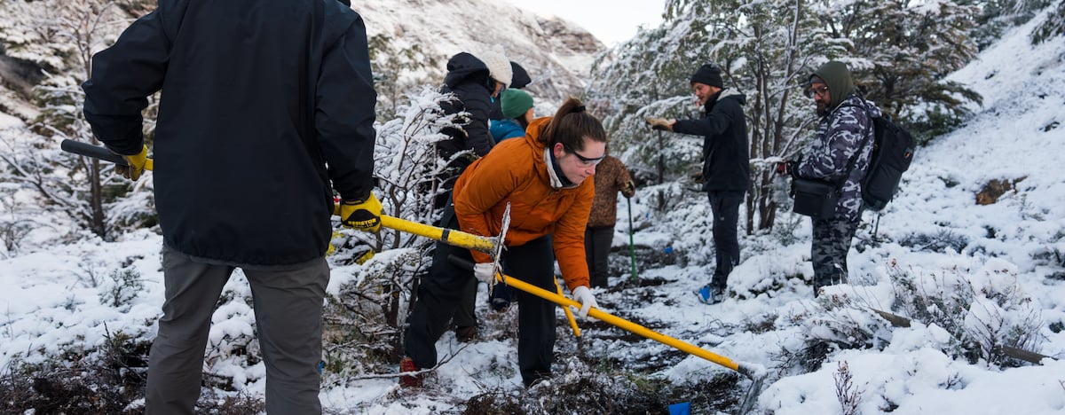
<path fill-rule="evenodd" d="M 445 129 L 450 136 L 437 144 L 437 149 L 443 157 L 450 157 L 463 150 L 473 150 L 478 156 L 485 156 L 492 149 L 493 142 L 488 131 L 488 113 L 491 107 L 492 88 L 488 66 L 476 56 L 461 52 L 447 61 L 447 76 L 444 77 L 442 93 L 454 93 L 456 100 L 443 102 L 440 107 L 444 114 L 469 113 L 469 118 L 459 123 L 461 130 Z"/>

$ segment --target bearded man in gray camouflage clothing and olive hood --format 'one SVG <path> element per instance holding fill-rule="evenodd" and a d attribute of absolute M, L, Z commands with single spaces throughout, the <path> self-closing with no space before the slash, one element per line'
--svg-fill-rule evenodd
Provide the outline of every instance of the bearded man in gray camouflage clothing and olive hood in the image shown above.
<path fill-rule="evenodd" d="M 805 179 L 843 182 L 835 215 L 812 219 L 814 237 L 814 296 L 822 286 L 847 282 L 847 252 L 862 219 L 862 178 L 872 155 L 872 118 L 881 111 L 854 88 L 847 65 L 829 62 L 809 78 L 809 94 L 817 104 L 820 122 L 817 136 L 799 161 L 782 162 L 777 171 Z M 854 159 L 851 172 L 847 168 Z"/>

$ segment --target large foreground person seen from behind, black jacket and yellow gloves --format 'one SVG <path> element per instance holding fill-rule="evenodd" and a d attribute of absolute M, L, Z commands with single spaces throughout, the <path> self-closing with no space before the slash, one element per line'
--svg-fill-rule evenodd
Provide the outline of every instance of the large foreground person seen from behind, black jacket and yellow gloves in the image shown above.
<path fill-rule="evenodd" d="M 362 18 L 335 0 L 161 1 L 93 57 L 85 118 L 136 180 L 153 150 L 165 302 L 147 413 L 192 414 L 211 316 L 234 267 L 251 285 L 266 411 L 321 413 L 333 189 L 376 231 L 376 93 Z M 327 168 L 328 166 L 328 168 Z"/>

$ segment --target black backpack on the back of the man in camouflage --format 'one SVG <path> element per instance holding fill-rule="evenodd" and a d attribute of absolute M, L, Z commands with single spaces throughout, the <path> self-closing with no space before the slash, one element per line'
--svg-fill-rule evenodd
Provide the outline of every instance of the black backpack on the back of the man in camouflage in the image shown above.
<path fill-rule="evenodd" d="M 873 118 L 875 136 L 869 169 L 862 179 L 862 200 L 867 209 L 880 211 L 899 189 L 902 173 L 914 161 L 917 143 L 908 131 L 887 117 Z"/>

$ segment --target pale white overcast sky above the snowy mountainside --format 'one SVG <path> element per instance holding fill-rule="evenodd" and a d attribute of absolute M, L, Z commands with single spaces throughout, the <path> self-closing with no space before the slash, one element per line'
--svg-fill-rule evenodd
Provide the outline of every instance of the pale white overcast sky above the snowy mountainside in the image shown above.
<path fill-rule="evenodd" d="M 607 46 L 661 23 L 663 0 L 507 0 L 519 7 L 580 24 Z"/>

